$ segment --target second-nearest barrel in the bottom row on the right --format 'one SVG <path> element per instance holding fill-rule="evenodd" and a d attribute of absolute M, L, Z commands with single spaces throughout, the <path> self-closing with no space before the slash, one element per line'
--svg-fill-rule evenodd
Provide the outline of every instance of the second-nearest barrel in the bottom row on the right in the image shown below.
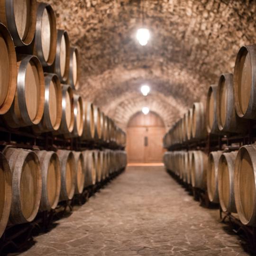
<path fill-rule="evenodd" d="M 235 160 L 238 152 L 223 153 L 219 158 L 219 204 L 225 212 L 237 212 L 234 191 Z"/>

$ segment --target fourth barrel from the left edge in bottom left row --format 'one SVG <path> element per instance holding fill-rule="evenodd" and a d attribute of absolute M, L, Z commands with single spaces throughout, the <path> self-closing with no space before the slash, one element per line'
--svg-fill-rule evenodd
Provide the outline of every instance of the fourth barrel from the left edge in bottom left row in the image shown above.
<path fill-rule="evenodd" d="M 58 150 L 61 169 L 61 191 L 60 201 L 73 198 L 76 184 L 76 168 L 74 154 L 69 150 Z"/>

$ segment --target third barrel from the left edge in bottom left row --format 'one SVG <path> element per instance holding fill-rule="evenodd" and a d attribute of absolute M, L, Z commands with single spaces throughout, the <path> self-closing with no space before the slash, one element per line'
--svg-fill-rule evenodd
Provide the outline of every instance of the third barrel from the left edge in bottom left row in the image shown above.
<path fill-rule="evenodd" d="M 42 173 L 42 196 L 39 210 L 55 209 L 61 189 L 61 170 L 58 155 L 53 151 L 35 151 L 39 158 Z"/>

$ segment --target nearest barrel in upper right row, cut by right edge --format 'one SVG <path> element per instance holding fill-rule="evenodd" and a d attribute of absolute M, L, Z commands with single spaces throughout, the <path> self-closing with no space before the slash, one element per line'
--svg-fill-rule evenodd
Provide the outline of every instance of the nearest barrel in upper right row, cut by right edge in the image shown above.
<path fill-rule="evenodd" d="M 234 69 L 235 108 L 239 117 L 256 119 L 256 45 L 242 46 Z"/>

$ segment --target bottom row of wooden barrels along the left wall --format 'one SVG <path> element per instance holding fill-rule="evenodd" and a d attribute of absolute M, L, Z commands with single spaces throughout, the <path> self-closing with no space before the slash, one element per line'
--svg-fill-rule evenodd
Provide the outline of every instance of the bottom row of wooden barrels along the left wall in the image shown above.
<path fill-rule="evenodd" d="M 6 147 L 0 153 L 0 236 L 8 223 L 32 221 L 87 186 L 125 168 L 124 151 L 31 151 Z"/>

